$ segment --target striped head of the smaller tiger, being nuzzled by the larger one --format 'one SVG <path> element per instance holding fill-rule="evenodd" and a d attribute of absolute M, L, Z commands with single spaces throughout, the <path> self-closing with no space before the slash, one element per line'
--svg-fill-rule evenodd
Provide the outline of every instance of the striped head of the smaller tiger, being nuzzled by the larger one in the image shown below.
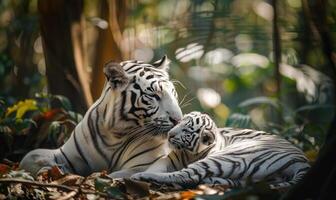
<path fill-rule="evenodd" d="M 207 114 L 191 112 L 168 132 L 169 145 L 200 153 L 215 143 L 216 131 L 216 124 Z"/>

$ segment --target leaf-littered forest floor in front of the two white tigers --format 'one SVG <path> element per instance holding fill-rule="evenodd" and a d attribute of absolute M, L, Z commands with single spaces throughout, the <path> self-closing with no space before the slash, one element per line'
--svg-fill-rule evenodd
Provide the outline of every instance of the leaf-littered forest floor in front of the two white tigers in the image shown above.
<path fill-rule="evenodd" d="M 240 189 L 199 185 L 176 191 L 129 179 L 112 180 L 104 171 L 88 177 L 63 174 L 58 167 L 34 179 L 17 163 L 0 164 L 0 199 L 278 199 L 281 193 L 265 183 Z"/>

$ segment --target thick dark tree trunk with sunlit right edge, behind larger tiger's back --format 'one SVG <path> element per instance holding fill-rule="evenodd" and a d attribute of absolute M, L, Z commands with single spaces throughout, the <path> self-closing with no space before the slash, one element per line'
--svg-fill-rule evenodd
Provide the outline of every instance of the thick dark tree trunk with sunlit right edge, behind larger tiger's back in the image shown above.
<path fill-rule="evenodd" d="M 39 0 L 46 75 L 51 94 L 69 98 L 84 113 L 92 103 L 82 44 L 82 0 Z"/>

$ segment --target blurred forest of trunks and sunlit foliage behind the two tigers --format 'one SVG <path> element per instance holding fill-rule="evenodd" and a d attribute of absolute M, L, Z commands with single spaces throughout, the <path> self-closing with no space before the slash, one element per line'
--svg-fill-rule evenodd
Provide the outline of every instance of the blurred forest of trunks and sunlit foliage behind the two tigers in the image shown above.
<path fill-rule="evenodd" d="M 315 159 L 334 116 L 336 2 L 1 0 L 0 159 L 61 145 L 109 60 L 167 55 L 184 113 L 280 134 Z"/>

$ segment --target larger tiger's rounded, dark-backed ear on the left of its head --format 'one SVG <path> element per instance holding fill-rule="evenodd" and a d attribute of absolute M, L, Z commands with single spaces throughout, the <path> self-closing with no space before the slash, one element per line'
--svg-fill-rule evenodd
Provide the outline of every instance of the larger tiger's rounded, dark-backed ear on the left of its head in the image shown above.
<path fill-rule="evenodd" d="M 112 89 L 124 90 L 128 85 L 128 77 L 119 63 L 113 61 L 106 63 L 104 74 Z"/>

